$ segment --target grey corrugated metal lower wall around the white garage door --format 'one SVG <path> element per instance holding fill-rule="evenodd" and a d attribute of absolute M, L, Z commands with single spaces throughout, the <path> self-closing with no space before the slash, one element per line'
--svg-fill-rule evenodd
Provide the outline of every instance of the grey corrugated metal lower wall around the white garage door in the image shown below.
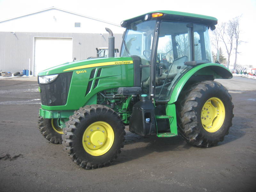
<path fill-rule="evenodd" d="M 119 50 L 122 35 L 114 34 L 115 47 Z M 71 37 L 73 38 L 73 58 L 84 60 L 91 56 L 96 57 L 96 47 L 108 47 L 108 36 L 108 34 L 92 33 L 0 32 L 0 72 L 22 72 L 23 68 L 32 71 L 35 37 Z"/>

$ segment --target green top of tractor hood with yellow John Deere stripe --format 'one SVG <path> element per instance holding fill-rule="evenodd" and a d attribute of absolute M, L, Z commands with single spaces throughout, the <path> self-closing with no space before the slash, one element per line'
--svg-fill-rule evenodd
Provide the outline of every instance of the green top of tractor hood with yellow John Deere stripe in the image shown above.
<path fill-rule="evenodd" d="M 111 58 L 97 58 L 90 60 L 80 60 L 70 63 L 64 63 L 52 68 L 45 69 L 44 71 L 39 72 L 38 76 L 53 75 L 63 72 L 76 71 L 76 73 L 82 73 L 86 71 L 86 68 L 93 67 L 102 67 L 102 66 L 111 66 L 111 65 L 125 65 L 132 64 L 133 60 L 131 57 L 111 57 Z M 85 70 L 84 70 L 85 69 Z"/>

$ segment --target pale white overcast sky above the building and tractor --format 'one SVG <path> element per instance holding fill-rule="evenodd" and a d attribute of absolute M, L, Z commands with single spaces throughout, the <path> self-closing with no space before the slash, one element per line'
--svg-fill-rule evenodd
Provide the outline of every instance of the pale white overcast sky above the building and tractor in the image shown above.
<path fill-rule="evenodd" d="M 256 67 L 253 59 L 256 44 L 256 0 L 0 0 L 0 21 L 52 6 L 117 24 L 122 20 L 156 10 L 209 15 L 216 17 L 219 23 L 242 15 L 241 40 L 247 43 L 238 47 L 238 52 L 241 52 L 238 56 L 238 64 L 253 64 Z M 215 51 L 214 47 L 212 50 Z"/>

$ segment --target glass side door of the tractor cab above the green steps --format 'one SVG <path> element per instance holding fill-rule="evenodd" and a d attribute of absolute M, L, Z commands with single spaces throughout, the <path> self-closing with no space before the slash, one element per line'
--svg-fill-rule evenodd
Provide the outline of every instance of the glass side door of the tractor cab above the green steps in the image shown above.
<path fill-rule="evenodd" d="M 188 23 L 162 21 L 156 52 L 155 100 L 168 101 L 172 86 L 191 68 L 191 28 Z"/>

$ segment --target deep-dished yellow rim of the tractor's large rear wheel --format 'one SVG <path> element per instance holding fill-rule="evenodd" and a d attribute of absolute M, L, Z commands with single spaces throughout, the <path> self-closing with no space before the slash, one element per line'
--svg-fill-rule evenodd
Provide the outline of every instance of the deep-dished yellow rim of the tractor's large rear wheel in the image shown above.
<path fill-rule="evenodd" d="M 220 129 L 225 119 L 223 102 L 212 97 L 204 103 L 201 111 L 201 122 L 207 132 L 216 132 Z"/>

